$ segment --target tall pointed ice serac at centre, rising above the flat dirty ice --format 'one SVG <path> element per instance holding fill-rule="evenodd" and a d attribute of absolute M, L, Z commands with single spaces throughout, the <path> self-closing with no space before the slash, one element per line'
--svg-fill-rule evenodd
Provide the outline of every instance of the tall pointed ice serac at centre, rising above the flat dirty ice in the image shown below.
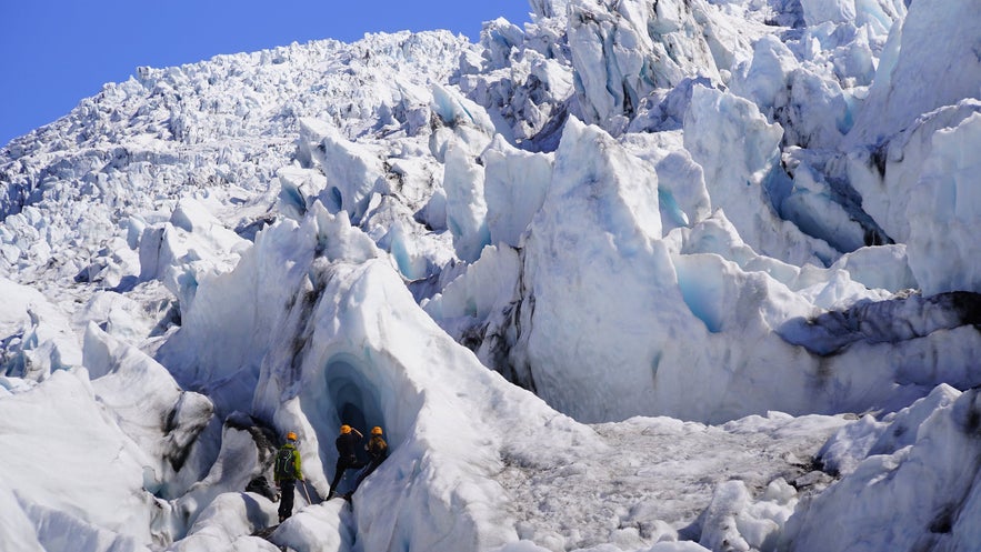
<path fill-rule="evenodd" d="M 598 127 L 570 119 L 551 182 L 525 240 L 513 362 L 533 373 L 542 398 L 575 418 L 648 411 L 659 344 L 650 329 L 659 302 L 678 294 L 658 241 L 657 173 Z M 623 401 L 608 401 L 611 394 Z"/>

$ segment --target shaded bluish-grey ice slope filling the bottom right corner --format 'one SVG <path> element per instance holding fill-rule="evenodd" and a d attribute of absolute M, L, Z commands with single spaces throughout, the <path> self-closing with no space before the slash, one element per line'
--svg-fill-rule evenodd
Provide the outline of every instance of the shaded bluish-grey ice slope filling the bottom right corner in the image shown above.
<path fill-rule="evenodd" d="M 781 545 L 801 552 L 883 548 L 967 552 L 977 548 L 981 538 L 981 400 L 977 389 L 960 393 L 948 388 L 943 394 L 931 395 L 924 404 L 925 419 L 911 412 L 880 432 L 908 434 L 908 439 L 873 449 L 835 485 L 801 503 Z M 845 431 L 852 432 L 853 440 L 875 434 L 841 430 Z M 829 532 L 829 523 L 837 530 Z"/>

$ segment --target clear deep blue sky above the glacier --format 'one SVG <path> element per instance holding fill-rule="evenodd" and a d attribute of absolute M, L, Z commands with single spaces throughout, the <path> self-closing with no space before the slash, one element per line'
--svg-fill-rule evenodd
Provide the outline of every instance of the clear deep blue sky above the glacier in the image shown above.
<path fill-rule="evenodd" d="M 0 147 L 139 66 L 404 29 L 450 29 L 477 41 L 483 21 L 520 24 L 529 11 L 528 0 L 2 0 Z"/>

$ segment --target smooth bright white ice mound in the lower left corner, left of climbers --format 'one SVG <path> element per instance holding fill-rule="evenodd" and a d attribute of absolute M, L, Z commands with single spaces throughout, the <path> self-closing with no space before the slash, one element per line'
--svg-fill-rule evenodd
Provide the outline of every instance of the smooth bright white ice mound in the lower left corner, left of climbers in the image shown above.
<path fill-rule="evenodd" d="M 104 415 L 83 369 L 58 371 L 3 398 L 0 419 L 0 489 L 14 489 L 22 511 L 10 522 L 29 519 L 44 550 L 142 551 L 168 543 L 151 530 L 161 509 L 143 490 L 146 452 Z"/>

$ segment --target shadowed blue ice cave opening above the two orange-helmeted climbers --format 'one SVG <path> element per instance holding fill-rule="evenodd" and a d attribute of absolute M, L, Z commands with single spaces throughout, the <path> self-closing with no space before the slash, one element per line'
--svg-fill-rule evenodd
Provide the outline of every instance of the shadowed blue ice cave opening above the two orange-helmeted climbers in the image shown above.
<path fill-rule="evenodd" d="M 366 436 L 374 425 L 384 429 L 384 413 L 381 410 L 379 390 L 364 375 L 360 361 L 350 357 L 334 358 L 327 363 L 323 373 L 327 395 L 337 415 L 336 428 L 346 423 Z M 359 450 L 359 454 L 366 453 Z"/>

